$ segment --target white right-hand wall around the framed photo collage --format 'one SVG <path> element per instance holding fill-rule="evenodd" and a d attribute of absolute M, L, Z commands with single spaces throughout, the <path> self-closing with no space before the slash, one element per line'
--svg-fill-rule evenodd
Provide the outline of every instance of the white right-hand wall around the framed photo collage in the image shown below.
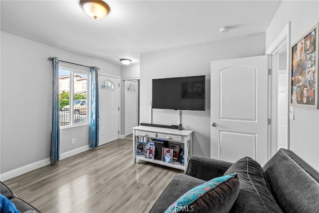
<path fill-rule="evenodd" d="M 319 22 L 319 1 L 284 0 L 266 31 L 266 49 L 288 21 L 291 21 L 291 44 L 294 44 Z M 319 110 L 295 107 L 295 120 L 290 120 L 290 148 L 319 171 Z"/>

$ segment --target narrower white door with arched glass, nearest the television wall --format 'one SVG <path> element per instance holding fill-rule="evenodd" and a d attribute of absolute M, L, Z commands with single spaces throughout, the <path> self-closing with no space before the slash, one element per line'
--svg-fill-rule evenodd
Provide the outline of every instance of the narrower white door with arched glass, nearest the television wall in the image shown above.
<path fill-rule="evenodd" d="M 138 126 L 138 85 L 137 80 L 124 81 L 124 137 L 133 133 Z"/>

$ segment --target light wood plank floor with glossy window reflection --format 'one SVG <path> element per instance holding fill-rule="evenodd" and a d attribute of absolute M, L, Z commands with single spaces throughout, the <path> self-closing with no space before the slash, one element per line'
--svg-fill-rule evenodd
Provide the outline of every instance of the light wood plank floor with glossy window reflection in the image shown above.
<path fill-rule="evenodd" d="M 183 171 L 133 163 L 131 140 L 120 139 L 4 182 L 41 213 L 148 213 Z"/>

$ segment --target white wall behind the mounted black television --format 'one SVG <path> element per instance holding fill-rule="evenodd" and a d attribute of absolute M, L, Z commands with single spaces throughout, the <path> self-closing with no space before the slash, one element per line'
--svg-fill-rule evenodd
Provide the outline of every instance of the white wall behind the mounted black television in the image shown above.
<path fill-rule="evenodd" d="M 183 110 L 181 123 L 183 128 L 194 130 L 193 155 L 210 157 L 210 62 L 263 55 L 264 52 L 265 33 L 257 33 L 234 39 L 141 54 L 141 122 L 150 123 L 152 79 L 206 75 L 206 111 Z M 177 111 L 154 109 L 153 115 L 155 124 L 177 125 Z"/>

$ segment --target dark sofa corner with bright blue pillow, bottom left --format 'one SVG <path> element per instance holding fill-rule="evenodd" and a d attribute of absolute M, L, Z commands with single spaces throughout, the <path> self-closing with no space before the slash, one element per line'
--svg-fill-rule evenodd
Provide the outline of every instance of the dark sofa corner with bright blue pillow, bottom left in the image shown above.
<path fill-rule="evenodd" d="M 7 186 L 5 186 L 2 182 L 0 182 L 0 193 L 2 196 L 7 198 L 9 202 L 11 202 L 17 211 L 20 213 L 40 213 L 37 209 L 26 203 L 25 201 L 19 199 L 16 197 L 14 192 L 12 192 Z M 6 200 L 6 199 L 5 199 Z M 7 200 L 6 200 L 7 202 Z M 1 199 L 1 210 L 0 212 L 6 213 L 6 212 L 13 212 L 12 209 L 9 209 L 6 207 L 6 202 L 4 199 Z M 7 203 L 9 203 L 7 202 Z"/>

